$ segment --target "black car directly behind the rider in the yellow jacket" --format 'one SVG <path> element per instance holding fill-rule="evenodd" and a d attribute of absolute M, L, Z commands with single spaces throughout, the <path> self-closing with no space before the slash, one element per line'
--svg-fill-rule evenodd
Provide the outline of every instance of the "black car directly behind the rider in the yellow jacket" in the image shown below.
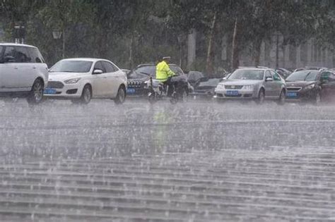
<path fill-rule="evenodd" d="M 187 75 L 184 74 L 182 69 L 175 65 L 169 65 L 171 70 L 176 73 L 179 78 L 180 85 L 184 86 L 187 93 L 192 92 L 193 87 L 187 82 Z M 156 67 L 154 64 L 141 64 L 131 70 L 128 74 L 128 89 L 127 94 L 131 96 L 147 96 L 148 95 L 148 80 L 155 79 Z"/>

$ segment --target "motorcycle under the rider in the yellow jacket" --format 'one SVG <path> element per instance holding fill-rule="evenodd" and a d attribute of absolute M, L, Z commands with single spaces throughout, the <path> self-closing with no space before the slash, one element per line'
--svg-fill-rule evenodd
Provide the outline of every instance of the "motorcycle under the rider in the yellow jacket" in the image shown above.
<path fill-rule="evenodd" d="M 148 101 L 151 104 L 167 98 L 170 99 L 171 104 L 177 104 L 178 101 L 186 101 L 188 95 L 187 89 L 185 89 L 180 78 L 172 77 L 170 82 L 170 86 L 167 86 L 158 80 L 150 78 L 148 81 Z"/>

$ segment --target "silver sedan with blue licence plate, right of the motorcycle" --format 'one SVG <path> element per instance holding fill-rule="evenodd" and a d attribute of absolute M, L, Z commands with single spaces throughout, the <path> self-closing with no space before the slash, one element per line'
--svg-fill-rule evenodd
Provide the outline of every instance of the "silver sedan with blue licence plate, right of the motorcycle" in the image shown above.
<path fill-rule="evenodd" d="M 286 83 L 271 68 L 238 68 L 218 84 L 215 93 L 216 99 L 254 99 L 259 104 L 273 99 L 283 104 Z"/>

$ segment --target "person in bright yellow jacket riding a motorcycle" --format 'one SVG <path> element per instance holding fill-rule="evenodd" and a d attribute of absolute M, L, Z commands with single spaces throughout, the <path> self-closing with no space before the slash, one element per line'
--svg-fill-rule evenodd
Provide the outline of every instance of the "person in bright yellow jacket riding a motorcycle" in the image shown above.
<path fill-rule="evenodd" d="M 165 56 L 162 61 L 156 66 L 156 80 L 163 83 L 163 85 L 168 88 L 171 86 L 171 78 L 175 75 L 174 72 L 169 67 L 171 57 Z M 168 90 L 167 94 L 171 94 L 170 90 Z"/>

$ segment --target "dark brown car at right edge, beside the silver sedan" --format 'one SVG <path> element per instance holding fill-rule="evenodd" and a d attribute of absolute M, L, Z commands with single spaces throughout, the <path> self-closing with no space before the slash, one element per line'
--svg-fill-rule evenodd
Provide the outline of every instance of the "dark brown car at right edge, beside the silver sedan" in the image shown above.
<path fill-rule="evenodd" d="M 289 101 L 313 101 L 318 104 L 323 99 L 335 95 L 335 75 L 332 70 L 299 70 L 286 78 Z"/>

